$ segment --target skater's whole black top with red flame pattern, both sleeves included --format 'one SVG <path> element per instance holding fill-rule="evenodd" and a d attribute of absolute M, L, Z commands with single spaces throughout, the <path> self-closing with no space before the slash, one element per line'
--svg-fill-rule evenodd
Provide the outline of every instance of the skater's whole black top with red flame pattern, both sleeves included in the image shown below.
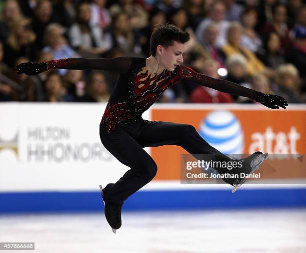
<path fill-rule="evenodd" d="M 144 57 L 71 58 L 56 60 L 55 65 L 52 68 L 100 69 L 120 73 L 100 123 L 100 125 L 105 126 L 107 132 L 111 132 L 117 123 L 130 124 L 141 118 L 141 114 L 167 88 L 179 81 L 198 83 L 221 92 L 251 99 L 255 98 L 254 91 L 251 89 L 226 80 L 208 77 L 184 65 L 177 66 L 173 71 L 165 69 L 161 74 L 152 74 L 148 72 L 146 58 Z"/>

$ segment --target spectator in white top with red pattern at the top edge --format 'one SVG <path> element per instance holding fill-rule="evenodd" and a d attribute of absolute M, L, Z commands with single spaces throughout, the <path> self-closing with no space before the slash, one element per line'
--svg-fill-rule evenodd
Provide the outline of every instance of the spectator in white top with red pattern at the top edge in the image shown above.
<path fill-rule="evenodd" d="M 109 11 L 105 8 L 105 5 L 106 0 L 91 0 L 90 4 L 90 25 L 98 25 L 103 30 L 111 23 Z"/>

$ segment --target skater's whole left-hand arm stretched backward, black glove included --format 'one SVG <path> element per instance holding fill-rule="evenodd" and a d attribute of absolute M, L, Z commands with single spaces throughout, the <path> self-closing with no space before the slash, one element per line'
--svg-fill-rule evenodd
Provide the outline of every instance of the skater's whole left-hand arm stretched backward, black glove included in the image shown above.
<path fill-rule="evenodd" d="M 85 58 L 66 58 L 59 60 L 51 60 L 46 62 L 28 62 L 21 63 L 16 66 L 15 71 L 18 74 L 37 75 L 43 71 L 52 69 L 68 69 L 68 70 L 110 70 L 126 73 L 131 65 L 130 57 L 116 57 L 111 59 L 85 59 Z"/>

